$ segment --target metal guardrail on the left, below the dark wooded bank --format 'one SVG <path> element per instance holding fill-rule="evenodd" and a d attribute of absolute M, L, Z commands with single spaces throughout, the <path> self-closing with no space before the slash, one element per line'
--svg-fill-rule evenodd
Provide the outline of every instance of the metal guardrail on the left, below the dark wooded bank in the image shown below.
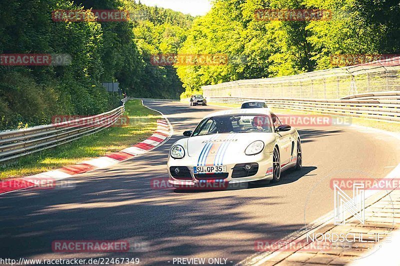
<path fill-rule="evenodd" d="M 125 111 L 124 103 L 108 112 L 45 125 L 0 132 L 0 162 L 52 148 L 114 124 Z"/>

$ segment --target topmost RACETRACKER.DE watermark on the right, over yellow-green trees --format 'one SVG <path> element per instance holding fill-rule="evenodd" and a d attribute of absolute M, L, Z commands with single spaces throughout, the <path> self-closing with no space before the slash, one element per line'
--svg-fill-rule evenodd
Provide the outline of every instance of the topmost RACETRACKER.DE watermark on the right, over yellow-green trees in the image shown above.
<path fill-rule="evenodd" d="M 255 20 L 260 21 L 311 21 L 330 20 L 332 11 L 328 9 L 257 9 Z"/>

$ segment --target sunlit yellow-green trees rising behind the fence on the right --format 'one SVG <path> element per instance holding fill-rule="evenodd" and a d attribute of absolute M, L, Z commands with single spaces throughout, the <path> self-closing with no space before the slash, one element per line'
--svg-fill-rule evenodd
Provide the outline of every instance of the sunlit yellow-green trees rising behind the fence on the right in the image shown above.
<path fill-rule="evenodd" d="M 336 67 L 334 54 L 398 53 L 400 4 L 392 0 L 213 0 L 193 21 L 182 53 L 226 53 L 226 65 L 177 66 L 187 96 L 202 85 Z M 318 20 L 257 19 L 257 10 L 321 9 Z M 265 18 L 265 17 L 263 17 Z"/>

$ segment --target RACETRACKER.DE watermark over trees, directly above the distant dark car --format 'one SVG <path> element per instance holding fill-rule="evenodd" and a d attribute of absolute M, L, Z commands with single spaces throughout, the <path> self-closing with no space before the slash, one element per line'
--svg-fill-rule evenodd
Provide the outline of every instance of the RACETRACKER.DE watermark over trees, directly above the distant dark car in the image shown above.
<path fill-rule="evenodd" d="M 201 54 L 184 54 L 184 53 L 159 53 L 150 56 L 152 65 L 226 65 L 228 63 L 228 55 L 225 53 L 201 53 Z"/>

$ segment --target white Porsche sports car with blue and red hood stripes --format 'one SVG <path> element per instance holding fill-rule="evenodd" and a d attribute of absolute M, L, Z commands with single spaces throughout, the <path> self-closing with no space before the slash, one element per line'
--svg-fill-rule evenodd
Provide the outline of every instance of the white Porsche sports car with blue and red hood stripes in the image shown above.
<path fill-rule="evenodd" d="M 268 108 L 218 111 L 205 116 L 188 138 L 169 150 L 168 181 L 174 187 L 207 182 L 279 181 L 281 171 L 300 169 L 297 130 Z"/>

